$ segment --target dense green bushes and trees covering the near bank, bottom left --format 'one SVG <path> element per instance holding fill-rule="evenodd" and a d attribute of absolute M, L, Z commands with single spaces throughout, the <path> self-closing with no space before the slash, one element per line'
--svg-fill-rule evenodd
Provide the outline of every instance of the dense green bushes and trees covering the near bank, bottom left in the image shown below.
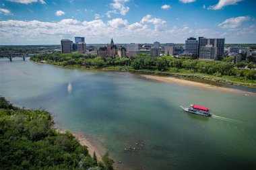
<path fill-rule="evenodd" d="M 13 107 L 0 97 L 0 169 L 109 169 L 71 134 L 53 130 L 51 114 Z"/>

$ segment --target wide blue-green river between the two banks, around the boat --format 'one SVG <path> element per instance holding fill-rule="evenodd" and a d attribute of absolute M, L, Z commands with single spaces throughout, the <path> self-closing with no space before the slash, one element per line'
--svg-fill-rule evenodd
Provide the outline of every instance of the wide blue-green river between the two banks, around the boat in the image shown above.
<path fill-rule="evenodd" d="M 256 95 L 17 59 L 1 59 L 0 71 L 0 95 L 48 110 L 59 127 L 85 132 L 123 167 L 256 169 Z M 190 103 L 209 107 L 215 116 L 183 112 L 180 105 Z M 143 149 L 127 152 L 127 146 Z"/>

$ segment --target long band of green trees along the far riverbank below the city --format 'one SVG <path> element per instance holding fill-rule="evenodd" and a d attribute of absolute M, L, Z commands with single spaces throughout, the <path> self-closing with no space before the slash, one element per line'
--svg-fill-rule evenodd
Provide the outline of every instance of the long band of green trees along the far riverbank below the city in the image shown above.
<path fill-rule="evenodd" d="M 185 69 L 190 73 L 204 73 L 215 76 L 235 76 L 241 79 L 256 79 L 255 65 L 253 62 L 249 64 L 245 62 L 231 63 L 230 58 L 226 60 L 192 60 L 189 57 L 182 56 L 180 59 L 172 56 L 151 57 L 149 54 L 138 54 L 135 58 L 115 58 L 107 56 L 106 58 L 97 57 L 92 54 L 79 53 L 53 53 L 39 54 L 30 58 L 36 62 L 46 60 L 54 65 L 82 65 L 85 67 L 116 67 L 126 66 L 135 70 L 150 70 L 150 71 L 177 71 Z M 248 69 L 245 69 L 248 67 Z"/>

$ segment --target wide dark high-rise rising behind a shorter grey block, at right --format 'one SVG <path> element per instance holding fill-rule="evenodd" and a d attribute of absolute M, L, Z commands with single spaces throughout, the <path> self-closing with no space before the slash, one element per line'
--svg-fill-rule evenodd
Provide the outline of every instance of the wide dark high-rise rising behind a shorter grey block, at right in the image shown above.
<path fill-rule="evenodd" d="M 224 55 L 225 38 L 203 38 L 199 37 L 198 48 L 201 50 L 202 46 L 212 45 L 217 47 L 217 57 Z"/>

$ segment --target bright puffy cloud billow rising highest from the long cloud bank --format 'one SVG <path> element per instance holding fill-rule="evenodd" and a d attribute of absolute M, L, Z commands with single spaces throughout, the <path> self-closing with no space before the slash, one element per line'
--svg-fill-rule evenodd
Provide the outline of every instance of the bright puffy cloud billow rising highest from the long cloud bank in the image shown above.
<path fill-rule="evenodd" d="M 158 31 L 162 31 L 166 28 L 164 26 L 164 24 L 166 24 L 166 21 L 156 17 L 152 18 L 152 15 L 146 15 L 145 17 L 143 17 L 141 19 L 141 24 L 153 24 L 155 30 Z"/>

